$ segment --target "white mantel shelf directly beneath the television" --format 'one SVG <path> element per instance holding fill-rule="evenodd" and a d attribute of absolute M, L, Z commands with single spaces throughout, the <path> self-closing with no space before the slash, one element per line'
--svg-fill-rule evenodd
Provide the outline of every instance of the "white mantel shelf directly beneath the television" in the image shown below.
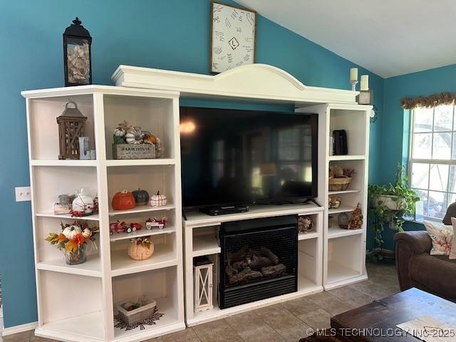
<path fill-rule="evenodd" d="M 261 217 L 274 217 L 283 215 L 306 215 L 315 214 L 322 212 L 323 207 L 318 207 L 314 203 L 307 204 L 262 204 L 262 205 L 251 205 L 248 212 L 242 212 L 239 214 L 227 214 L 221 216 L 210 216 L 203 212 L 186 212 L 187 219 L 184 224 L 185 227 L 208 227 L 221 224 L 222 222 L 228 221 L 239 221 L 240 219 L 257 219 Z"/>

